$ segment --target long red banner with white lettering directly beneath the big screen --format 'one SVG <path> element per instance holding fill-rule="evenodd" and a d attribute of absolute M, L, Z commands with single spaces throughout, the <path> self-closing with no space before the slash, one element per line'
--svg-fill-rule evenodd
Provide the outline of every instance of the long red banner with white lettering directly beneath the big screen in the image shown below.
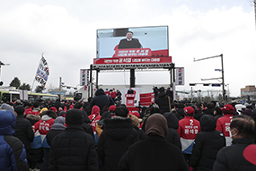
<path fill-rule="evenodd" d="M 172 63 L 172 56 L 168 57 L 119 57 L 94 58 L 93 64 L 167 64 Z"/>

